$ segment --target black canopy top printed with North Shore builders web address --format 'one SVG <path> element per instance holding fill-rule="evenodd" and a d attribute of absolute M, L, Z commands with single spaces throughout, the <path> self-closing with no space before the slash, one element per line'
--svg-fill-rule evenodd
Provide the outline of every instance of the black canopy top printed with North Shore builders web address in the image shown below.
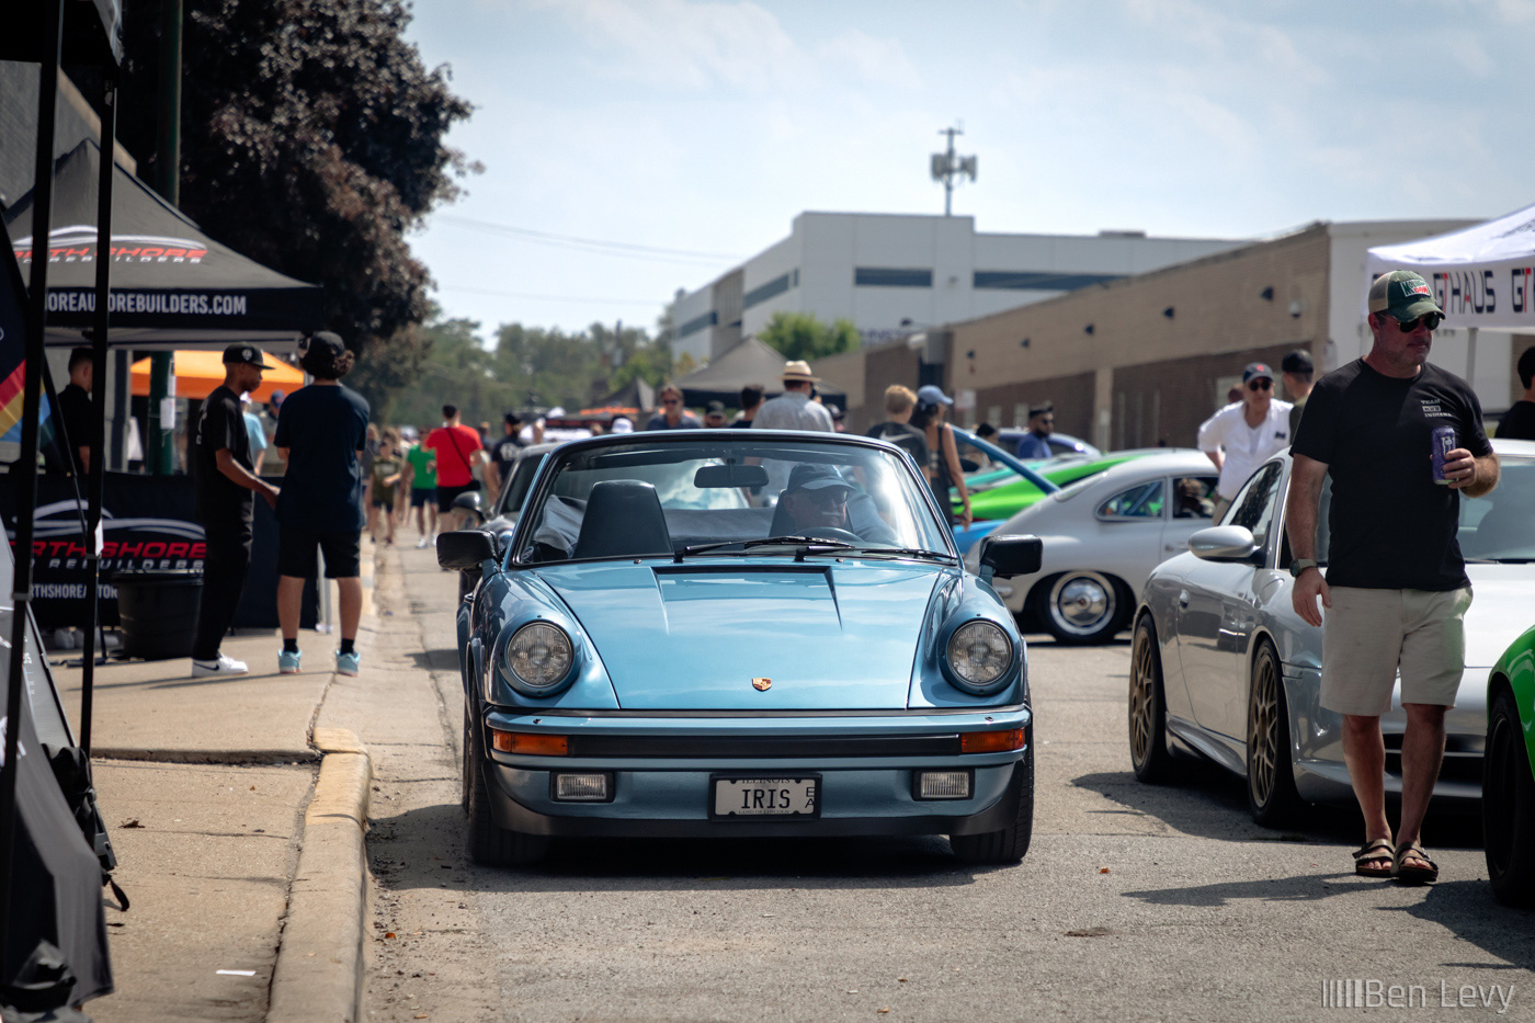
<path fill-rule="evenodd" d="M 95 327 L 97 206 L 101 149 L 81 141 L 54 164 L 55 227 L 48 233 L 48 338 L 84 344 Z M 26 269 L 41 247 L 32 194 L 5 214 Z M 209 238 L 181 210 L 114 161 L 112 347 L 223 347 L 292 343 L 322 323 L 321 289 Z"/>

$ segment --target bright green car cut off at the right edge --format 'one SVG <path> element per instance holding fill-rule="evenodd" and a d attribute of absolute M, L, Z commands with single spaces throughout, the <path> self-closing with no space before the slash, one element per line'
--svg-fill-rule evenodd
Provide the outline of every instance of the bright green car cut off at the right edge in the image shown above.
<path fill-rule="evenodd" d="M 1481 828 L 1492 894 L 1535 908 L 1535 628 L 1503 651 L 1487 676 Z"/>

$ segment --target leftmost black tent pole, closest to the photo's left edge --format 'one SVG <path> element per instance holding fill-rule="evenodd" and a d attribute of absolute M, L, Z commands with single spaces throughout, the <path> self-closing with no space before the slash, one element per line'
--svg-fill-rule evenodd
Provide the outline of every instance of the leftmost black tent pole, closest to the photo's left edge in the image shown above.
<path fill-rule="evenodd" d="M 6 687 L 5 766 L 0 768 L 0 965 L 6 962 L 6 922 L 11 919 L 11 880 L 15 865 L 17 733 L 21 731 L 21 662 L 32 599 L 32 533 L 37 507 L 38 393 L 43 389 L 43 332 L 48 327 L 48 249 L 54 207 L 54 108 L 58 103 L 60 48 L 64 35 L 63 0 L 46 0 L 38 55 L 37 152 L 32 183 L 32 281 L 28 290 L 26 370 L 21 396 L 21 455 L 15 488 L 15 579 L 11 594 L 11 657 Z M 15 258 L 6 253 L 5 258 Z"/>

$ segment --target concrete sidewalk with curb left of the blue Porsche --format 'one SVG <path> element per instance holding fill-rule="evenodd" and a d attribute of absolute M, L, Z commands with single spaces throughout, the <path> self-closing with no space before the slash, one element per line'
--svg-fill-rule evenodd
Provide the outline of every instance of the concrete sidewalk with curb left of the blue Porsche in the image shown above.
<path fill-rule="evenodd" d="M 370 598 L 365 539 L 362 561 Z M 232 679 L 193 679 L 189 659 L 97 667 L 92 766 L 130 900 L 124 912 L 103 889 L 117 992 L 86 1003 L 97 1023 L 355 1018 L 370 760 L 344 722 L 315 727 L 336 644 L 299 633 L 304 671 L 289 676 L 275 630 L 224 641 L 250 665 Z M 54 677 L 78 733 L 81 668 Z"/>

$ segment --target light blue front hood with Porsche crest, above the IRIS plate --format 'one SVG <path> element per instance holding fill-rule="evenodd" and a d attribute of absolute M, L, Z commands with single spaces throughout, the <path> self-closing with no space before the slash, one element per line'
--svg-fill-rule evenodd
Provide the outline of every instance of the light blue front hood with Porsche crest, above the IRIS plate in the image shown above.
<path fill-rule="evenodd" d="M 620 707 L 772 711 L 904 708 L 933 587 L 955 571 L 732 559 L 540 576 L 580 621 Z"/>

